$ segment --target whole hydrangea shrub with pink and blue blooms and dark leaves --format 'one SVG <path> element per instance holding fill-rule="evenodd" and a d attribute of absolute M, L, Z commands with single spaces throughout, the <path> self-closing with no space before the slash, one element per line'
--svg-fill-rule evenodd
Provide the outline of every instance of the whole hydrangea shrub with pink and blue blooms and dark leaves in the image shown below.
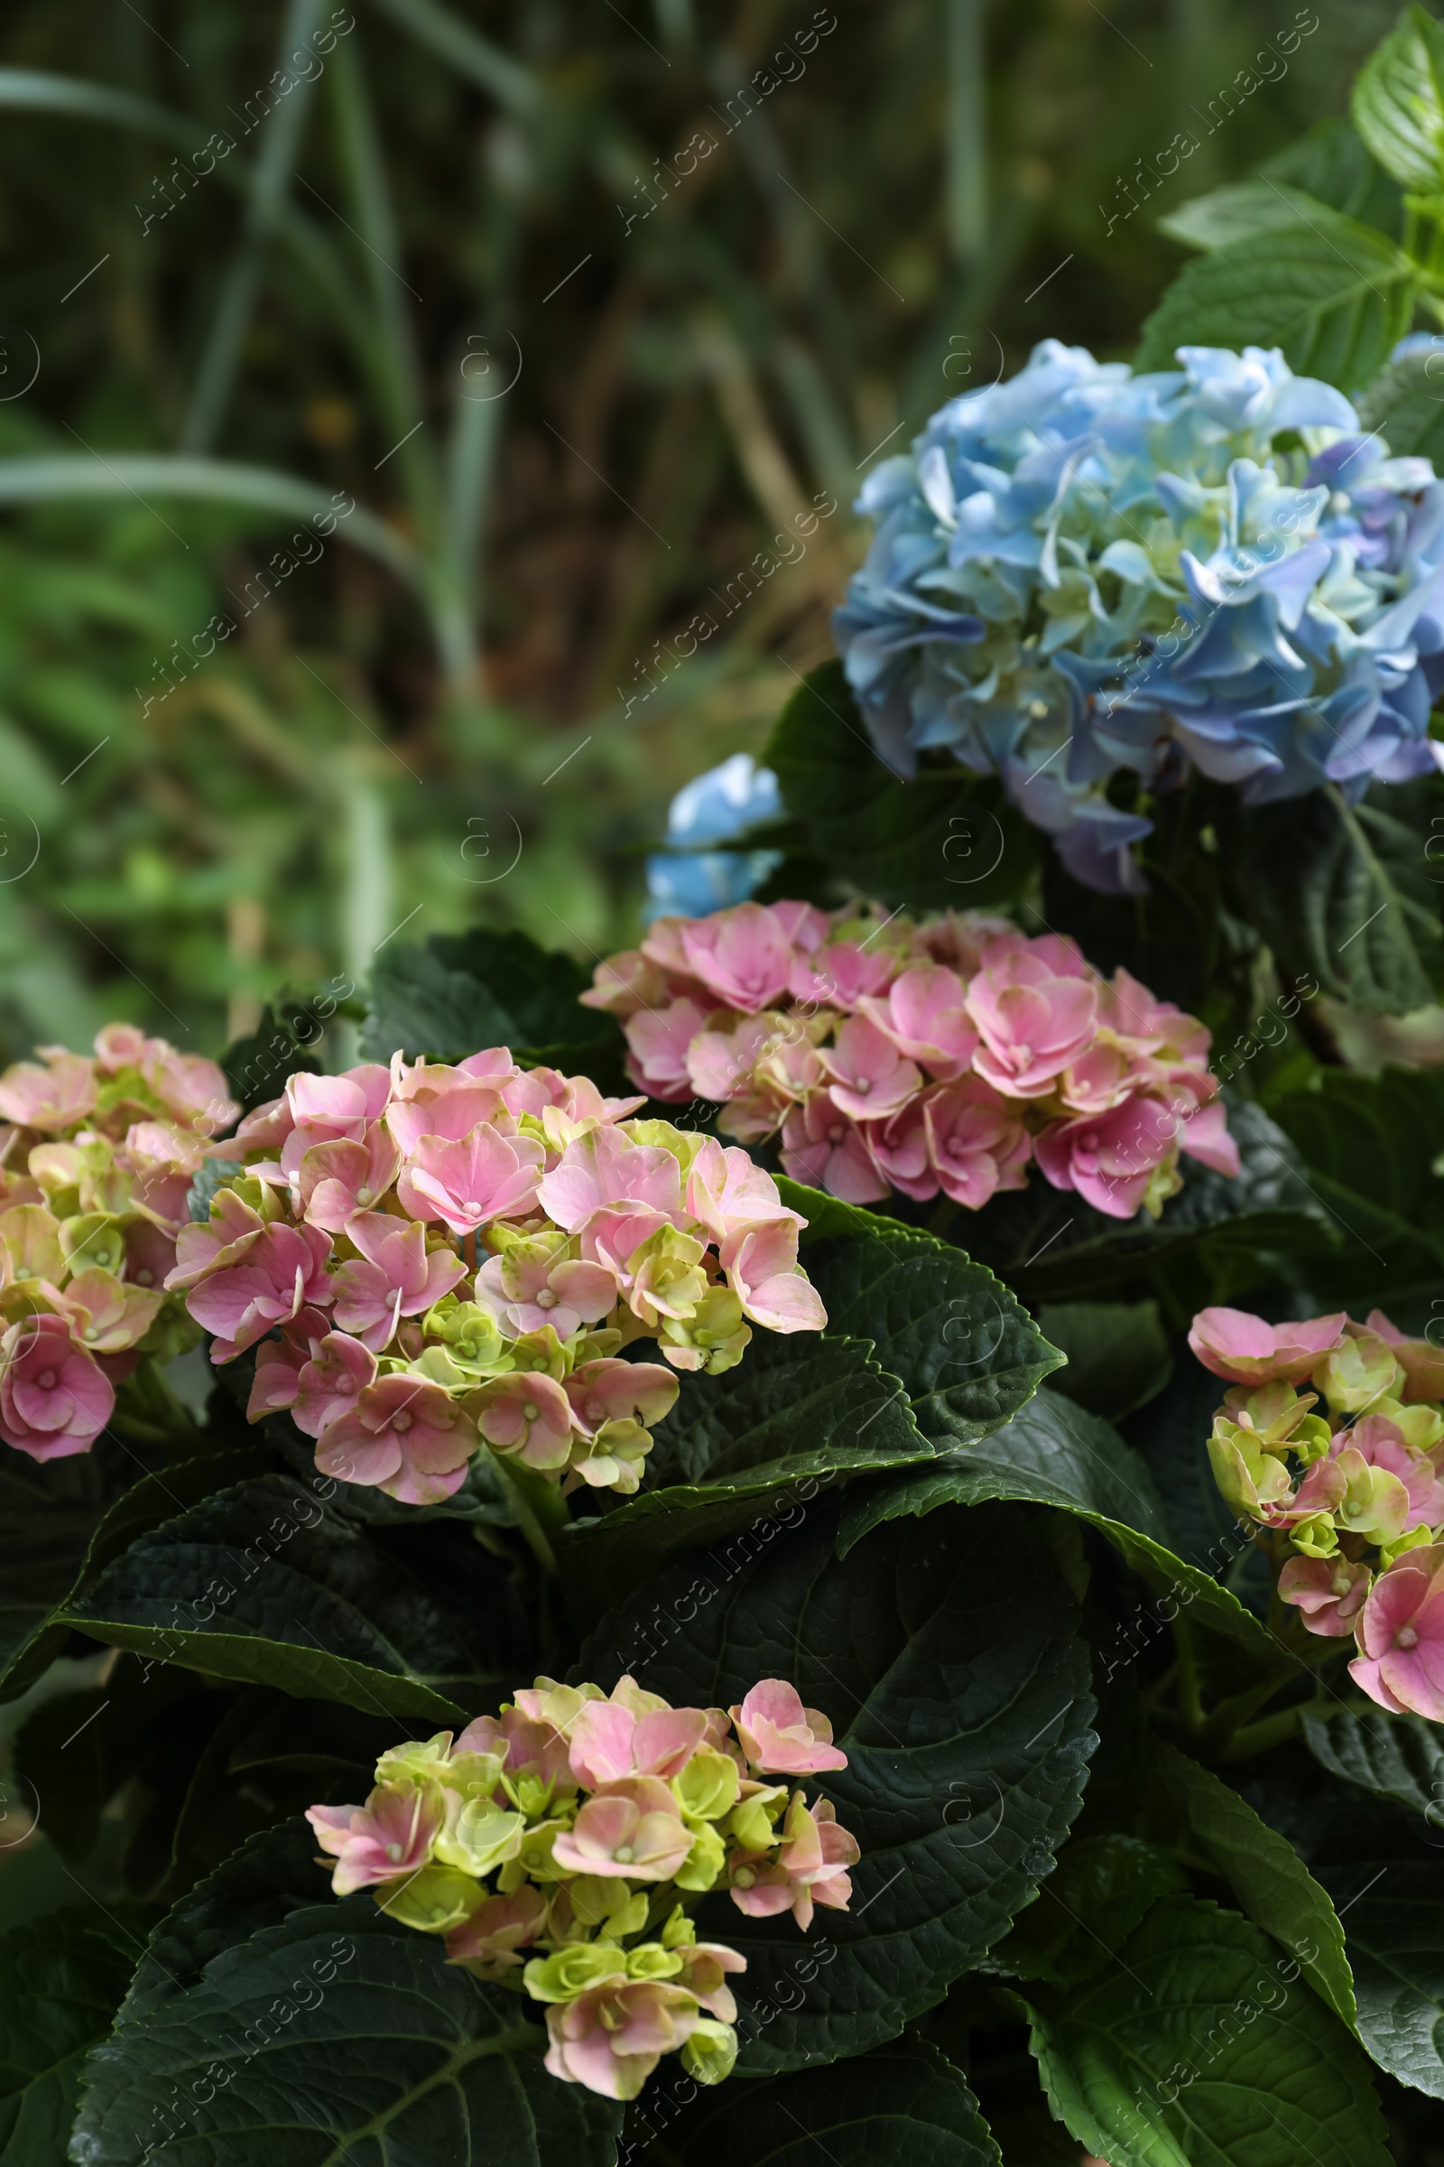
<path fill-rule="evenodd" d="M 0 1077 L 6 2160 L 1435 2158 L 1440 85 L 870 475 L 591 990 Z"/>

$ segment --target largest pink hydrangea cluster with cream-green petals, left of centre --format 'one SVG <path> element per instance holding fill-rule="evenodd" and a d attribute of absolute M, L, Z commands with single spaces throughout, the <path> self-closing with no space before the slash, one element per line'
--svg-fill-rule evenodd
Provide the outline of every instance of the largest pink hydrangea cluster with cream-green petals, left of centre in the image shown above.
<path fill-rule="evenodd" d="M 329 1476 L 435 1504 L 489 1445 L 634 1491 L 678 1370 L 827 1322 L 777 1183 L 641 1103 L 507 1047 L 294 1075 L 212 1146 L 236 1177 L 167 1285 L 212 1361 L 258 1348 L 251 1422 L 288 1409 Z"/>

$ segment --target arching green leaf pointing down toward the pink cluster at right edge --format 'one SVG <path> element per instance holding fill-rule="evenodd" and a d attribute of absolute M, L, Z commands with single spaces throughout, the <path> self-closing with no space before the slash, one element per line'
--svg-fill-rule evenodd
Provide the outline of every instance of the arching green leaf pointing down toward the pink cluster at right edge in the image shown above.
<path fill-rule="evenodd" d="M 948 1452 L 931 1467 L 914 1467 L 888 1484 L 868 1487 L 866 1495 L 846 1497 L 842 1549 L 901 1513 L 933 1513 L 940 1504 L 979 1504 L 985 1497 L 1076 1513 L 1106 1534 L 1150 1588 L 1173 1601 L 1173 1617 L 1186 1608 L 1193 1623 L 1223 1634 L 1266 1669 L 1292 1662 L 1228 1588 L 1173 1556 L 1147 1469 L 1117 1430 L 1056 1391 L 1039 1391 L 987 1443 Z"/>

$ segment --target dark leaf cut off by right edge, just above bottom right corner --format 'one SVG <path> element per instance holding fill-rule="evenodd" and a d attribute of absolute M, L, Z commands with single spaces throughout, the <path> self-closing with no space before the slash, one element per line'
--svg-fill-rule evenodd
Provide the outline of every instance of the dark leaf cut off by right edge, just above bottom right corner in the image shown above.
<path fill-rule="evenodd" d="M 1401 2085 L 1444 2100 L 1444 1859 L 1327 1872 L 1349 1918 L 1360 2037 Z"/>

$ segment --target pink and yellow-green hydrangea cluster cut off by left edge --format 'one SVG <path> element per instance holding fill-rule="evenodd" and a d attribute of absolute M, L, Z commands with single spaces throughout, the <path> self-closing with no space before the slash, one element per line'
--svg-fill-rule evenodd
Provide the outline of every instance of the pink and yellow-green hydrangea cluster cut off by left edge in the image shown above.
<path fill-rule="evenodd" d="M 240 1107 L 214 1062 L 130 1023 L 0 1075 L 0 1437 L 89 1452 L 143 1354 L 193 1344 L 165 1281 L 206 1140 Z"/>

